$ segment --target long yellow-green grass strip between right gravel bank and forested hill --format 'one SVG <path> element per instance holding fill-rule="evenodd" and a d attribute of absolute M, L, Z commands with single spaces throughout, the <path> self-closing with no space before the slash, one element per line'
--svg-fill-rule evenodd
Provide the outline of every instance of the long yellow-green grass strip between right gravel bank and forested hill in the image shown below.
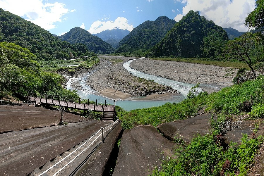
<path fill-rule="evenodd" d="M 160 60 L 160 61 L 177 61 L 177 62 L 188 62 L 188 63 L 200 63 L 205 65 L 216 65 L 219 67 L 228 67 L 228 68 L 247 68 L 250 70 L 246 63 L 242 62 L 229 62 L 229 61 L 212 61 L 208 58 L 150 58 L 151 60 Z"/>

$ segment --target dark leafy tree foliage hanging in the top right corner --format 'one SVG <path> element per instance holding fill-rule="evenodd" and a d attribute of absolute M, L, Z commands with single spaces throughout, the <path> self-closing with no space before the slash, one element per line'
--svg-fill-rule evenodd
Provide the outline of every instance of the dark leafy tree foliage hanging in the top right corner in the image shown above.
<path fill-rule="evenodd" d="M 264 0 L 256 1 L 256 8 L 245 19 L 247 27 L 261 28 L 264 26 Z"/>

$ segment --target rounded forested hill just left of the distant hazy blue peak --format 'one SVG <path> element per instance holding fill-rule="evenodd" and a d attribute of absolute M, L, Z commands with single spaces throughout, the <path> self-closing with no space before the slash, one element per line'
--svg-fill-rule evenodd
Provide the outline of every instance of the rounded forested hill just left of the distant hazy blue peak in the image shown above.
<path fill-rule="evenodd" d="M 114 48 L 107 42 L 104 42 L 97 36 L 93 36 L 87 30 L 80 27 L 74 27 L 66 34 L 58 36 L 62 41 L 70 42 L 71 44 L 82 43 L 88 49 L 98 54 L 112 53 Z"/>

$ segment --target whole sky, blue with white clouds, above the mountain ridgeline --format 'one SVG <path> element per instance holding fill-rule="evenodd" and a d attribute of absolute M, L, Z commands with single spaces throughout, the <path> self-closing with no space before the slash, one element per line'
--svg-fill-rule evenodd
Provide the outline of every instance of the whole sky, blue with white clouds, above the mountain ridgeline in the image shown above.
<path fill-rule="evenodd" d="M 73 27 L 90 33 L 119 27 L 133 30 L 159 16 L 179 21 L 189 10 L 222 27 L 246 32 L 243 23 L 254 10 L 255 0 L 0 0 L 0 7 L 31 21 L 52 34 L 61 35 Z"/>

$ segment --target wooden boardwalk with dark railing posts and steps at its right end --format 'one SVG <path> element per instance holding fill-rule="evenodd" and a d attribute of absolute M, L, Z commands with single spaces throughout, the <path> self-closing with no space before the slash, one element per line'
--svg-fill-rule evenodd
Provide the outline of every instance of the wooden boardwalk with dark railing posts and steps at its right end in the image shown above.
<path fill-rule="evenodd" d="M 76 103 L 73 101 L 63 101 L 58 99 L 46 99 L 42 97 L 29 97 L 30 101 L 34 102 L 34 106 L 39 106 L 40 104 L 44 106 L 61 106 L 65 108 L 77 109 L 82 111 L 92 110 L 95 112 L 102 112 L 103 119 L 114 119 L 115 114 L 115 105 L 95 105 L 95 104 L 86 104 L 86 103 Z"/>

